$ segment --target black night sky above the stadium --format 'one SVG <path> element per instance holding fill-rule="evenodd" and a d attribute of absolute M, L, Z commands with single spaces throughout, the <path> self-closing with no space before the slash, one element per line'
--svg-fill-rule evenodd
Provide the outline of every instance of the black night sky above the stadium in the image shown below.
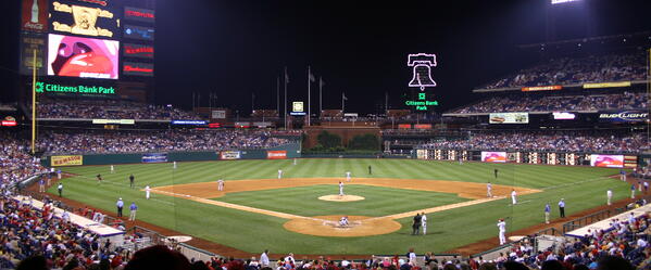
<path fill-rule="evenodd" d="M 15 99 L 18 1 L 4 3 L 0 79 L 2 101 Z M 436 53 L 438 87 L 450 110 L 501 75 L 538 60 L 516 44 L 548 38 L 627 34 L 651 29 L 648 0 L 581 0 L 549 10 L 549 0 L 506 1 L 157 1 L 155 102 L 191 107 L 192 92 L 248 114 L 276 108 L 276 77 L 288 67 L 288 101 L 306 101 L 308 65 L 323 76 L 324 108 L 376 113 L 388 92 L 401 108 L 409 53 Z M 10 12 L 15 11 L 15 12 Z M 551 13 L 550 13 L 551 12 Z M 555 36 L 548 37 L 549 17 Z M 313 111 L 318 86 L 313 83 Z M 283 87 L 283 85 L 281 85 Z"/>

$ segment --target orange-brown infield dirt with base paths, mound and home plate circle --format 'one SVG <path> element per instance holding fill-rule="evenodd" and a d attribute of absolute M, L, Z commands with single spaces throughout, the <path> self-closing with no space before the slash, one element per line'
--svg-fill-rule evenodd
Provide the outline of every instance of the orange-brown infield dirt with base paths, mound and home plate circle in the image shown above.
<path fill-rule="evenodd" d="M 483 204 L 496 200 L 502 200 L 511 193 L 513 189 L 518 194 L 530 194 L 540 192 L 540 190 L 525 189 L 509 185 L 492 185 L 493 197 L 486 197 L 486 184 L 474 182 L 455 182 L 441 180 L 414 180 L 414 179 L 391 179 L 391 178 L 354 178 L 353 181 L 347 184 L 365 184 L 392 189 L 418 190 L 454 193 L 460 197 L 470 198 L 472 201 L 458 204 L 437 206 L 426 209 L 418 209 L 406 213 L 393 214 L 385 217 L 349 217 L 352 222 L 350 227 L 338 227 L 338 220 L 343 216 L 318 216 L 318 217 L 302 217 L 292 214 L 261 209 L 245 205 L 230 204 L 212 198 L 224 196 L 231 192 L 245 191 L 261 191 L 296 187 L 309 187 L 315 184 L 333 184 L 333 190 L 338 189 L 338 184 L 343 178 L 293 178 L 293 179 L 259 179 L 259 180 L 235 180 L 226 181 L 224 191 L 217 190 L 215 182 L 186 183 L 165 187 L 157 187 L 151 191 L 168 196 L 181 197 L 199 203 L 212 204 L 221 207 L 228 207 L 238 210 L 256 213 L 277 218 L 289 219 L 284 227 L 285 229 L 302 234 L 320 235 L 320 236 L 368 236 L 387 234 L 400 230 L 401 226 L 395 219 L 415 216 L 417 213 L 436 213 L 449 210 L 458 207 L 465 207 L 476 204 Z M 316 197 L 315 197 L 316 200 Z M 325 195 L 318 200 L 326 200 L 339 203 L 353 202 L 364 200 L 362 196 L 354 195 Z"/>

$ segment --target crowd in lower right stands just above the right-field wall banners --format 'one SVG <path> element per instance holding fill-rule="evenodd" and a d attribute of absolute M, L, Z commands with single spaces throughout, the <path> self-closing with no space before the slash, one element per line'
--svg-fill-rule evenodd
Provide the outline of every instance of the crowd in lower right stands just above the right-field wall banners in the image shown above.
<path fill-rule="evenodd" d="M 640 153 L 651 150 L 646 134 L 609 131 L 480 131 L 465 140 L 436 141 L 425 149 L 533 150 Z"/>

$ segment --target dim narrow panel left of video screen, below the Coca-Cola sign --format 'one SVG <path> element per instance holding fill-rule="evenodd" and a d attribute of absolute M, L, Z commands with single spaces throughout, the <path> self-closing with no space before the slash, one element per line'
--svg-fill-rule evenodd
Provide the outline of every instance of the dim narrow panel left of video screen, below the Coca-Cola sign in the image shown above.
<path fill-rule="evenodd" d="M 21 34 L 21 74 L 32 75 L 34 69 L 34 51 L 36 51 L 36 75 L 46 75 L 46 51 L 48 36 L 46 34 Z"/>

